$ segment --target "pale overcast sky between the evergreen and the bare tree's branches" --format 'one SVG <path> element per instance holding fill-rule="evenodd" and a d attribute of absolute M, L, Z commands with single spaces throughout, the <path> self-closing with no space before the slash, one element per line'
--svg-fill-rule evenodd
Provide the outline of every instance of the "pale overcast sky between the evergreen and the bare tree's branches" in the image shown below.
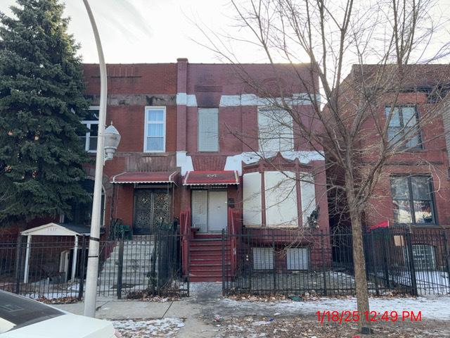
<path fill-rule="evenodd" d="M 362 0 L 359 0 L 362 1 Z M 365 0 L 368 1 L 368 0 Z M 437 0 L 434 13 L 450 17 L 450 0 Z M 167 63 L 186 57 L 191 63 L 219 62 L 217 56 L 192 39 L 205 42 L 193 23 L 214 32 L 235 35 L 235 13 L 230 0 L 90 0 L 100 30 L 108 63 Z M 0 11 L 11 13 L 14 0 L 0 0 Z M 70 32 L 81 43 L 86 63 L 97 63 L 94 35 L 82 0 L 66 0 L 66 15 L 72 18 Z M 443 39 L 450 38 L 449 29 Z M 238 32 L 241 35 L 243 32 Z M 264 53 L 238 46 L 241 62 L 264 62 Z M 299 60 L 302 61 L 302 60 Z"/>

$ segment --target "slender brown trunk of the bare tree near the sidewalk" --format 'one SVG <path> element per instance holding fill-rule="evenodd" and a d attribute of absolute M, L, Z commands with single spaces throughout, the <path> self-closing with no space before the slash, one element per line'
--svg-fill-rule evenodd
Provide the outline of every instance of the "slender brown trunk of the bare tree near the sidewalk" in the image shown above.
<path fill-rule="evenodd" d="M 353 204 L 354 205 L 354 204 Z M 353 237 L 353 265 L 354 280 L 356 284 L 356 303 L 359 312 L 358 327 L 362 334 L 371 333 L 369 306 L 368 306 L 368 288 L 366 278 L 366 260 L 364 259 L 363 232 L 361 224 L 361 213 L 356 208 L 352 208 L 352 201 L 349 201 L 349 214 L 352 221 Z"/>

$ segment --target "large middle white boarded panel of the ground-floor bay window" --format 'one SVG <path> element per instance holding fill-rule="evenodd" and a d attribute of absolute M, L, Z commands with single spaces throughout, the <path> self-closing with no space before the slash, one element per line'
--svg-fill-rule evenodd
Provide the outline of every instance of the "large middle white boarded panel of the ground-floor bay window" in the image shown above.
<path fill-rule="evenodd" d="M 267 226 L 298 226 L 296 183 L 291 171 L 264 173 Z"/>

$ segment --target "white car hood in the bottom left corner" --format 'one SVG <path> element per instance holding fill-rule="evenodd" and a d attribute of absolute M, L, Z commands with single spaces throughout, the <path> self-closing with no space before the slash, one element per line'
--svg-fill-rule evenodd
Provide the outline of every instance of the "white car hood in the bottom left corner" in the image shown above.
<path fill-rule="evenodd" d="M 53 337 L 111 338 L 114 337 L 114 327 L 107 320 L 67 314 L 0 334 L 0 338 Z"/>

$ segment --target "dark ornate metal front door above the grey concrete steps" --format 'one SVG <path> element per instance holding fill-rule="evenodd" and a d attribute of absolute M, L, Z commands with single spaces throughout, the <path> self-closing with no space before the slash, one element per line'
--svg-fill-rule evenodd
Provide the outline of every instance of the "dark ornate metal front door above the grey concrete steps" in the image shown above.
<path fill-rule="evenodd" d="M 152 234 L 155 227 L 170 222 L 167 189 L 134 189 L 134 234 Z"/>

